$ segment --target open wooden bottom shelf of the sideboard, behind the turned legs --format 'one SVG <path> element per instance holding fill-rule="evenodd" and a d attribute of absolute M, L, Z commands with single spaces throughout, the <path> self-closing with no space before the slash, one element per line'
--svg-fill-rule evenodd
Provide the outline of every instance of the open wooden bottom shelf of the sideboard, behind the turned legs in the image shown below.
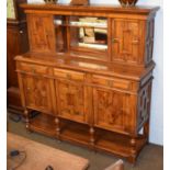
<path fill-rule="evenodd" d="M 31 120 L 30 129 L 50 137 L 56 136 L 55 117 L 53 115 L 41 113 Z M 90 147 L 89 126 L 86 124 L 76 123 L 60 118 L 60 135 L 61 140 L 77 143 Z M 124 158 L 132 157 L 131 137 L 127 135 L 120 135 L 117 133 L 107 132 L 105 129 L 94 128 L 94 147 L 93 149 L 114 154 Z M 146 144 L 146 138 L 139 135 L 136 140 L 136 149 L 139 152 Z"/>

